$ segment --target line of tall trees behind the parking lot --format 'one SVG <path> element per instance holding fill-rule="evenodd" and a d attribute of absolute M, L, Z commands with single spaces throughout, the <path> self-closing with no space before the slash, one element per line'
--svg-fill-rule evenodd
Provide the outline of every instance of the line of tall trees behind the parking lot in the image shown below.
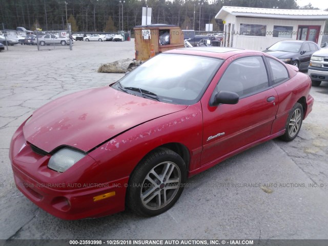
<path fill-rule="evenodd" d="M 215 15 L 222 6 L 314 9 L 295 0 L 0 0 L 0 23 L 6 29 L 58 30 L 71 23 L 73 32 L 116 32 L 141 25 L 142 7 L 152 8 L 152 23 L 181 29 L 223 30 Z"/>

